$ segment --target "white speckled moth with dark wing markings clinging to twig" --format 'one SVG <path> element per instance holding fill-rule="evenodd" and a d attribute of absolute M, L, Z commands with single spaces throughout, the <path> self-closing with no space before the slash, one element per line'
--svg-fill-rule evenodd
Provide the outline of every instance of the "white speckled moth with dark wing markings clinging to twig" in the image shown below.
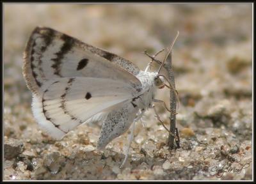
<path fill-rule="evenodd" d="M 102 121 L 102 149 L 132 123 L 134 129 L 157 102 L 154 95 L 166 86 L 164 76 L 159 75 L 161 68 L 148 68 L 142 71 L 116 54 L 49 27 L 36 27 L 26 44 L 22 72 L 33 94 L 33 116 L 42 129 L 61 139 L 83 123 Z"/>

